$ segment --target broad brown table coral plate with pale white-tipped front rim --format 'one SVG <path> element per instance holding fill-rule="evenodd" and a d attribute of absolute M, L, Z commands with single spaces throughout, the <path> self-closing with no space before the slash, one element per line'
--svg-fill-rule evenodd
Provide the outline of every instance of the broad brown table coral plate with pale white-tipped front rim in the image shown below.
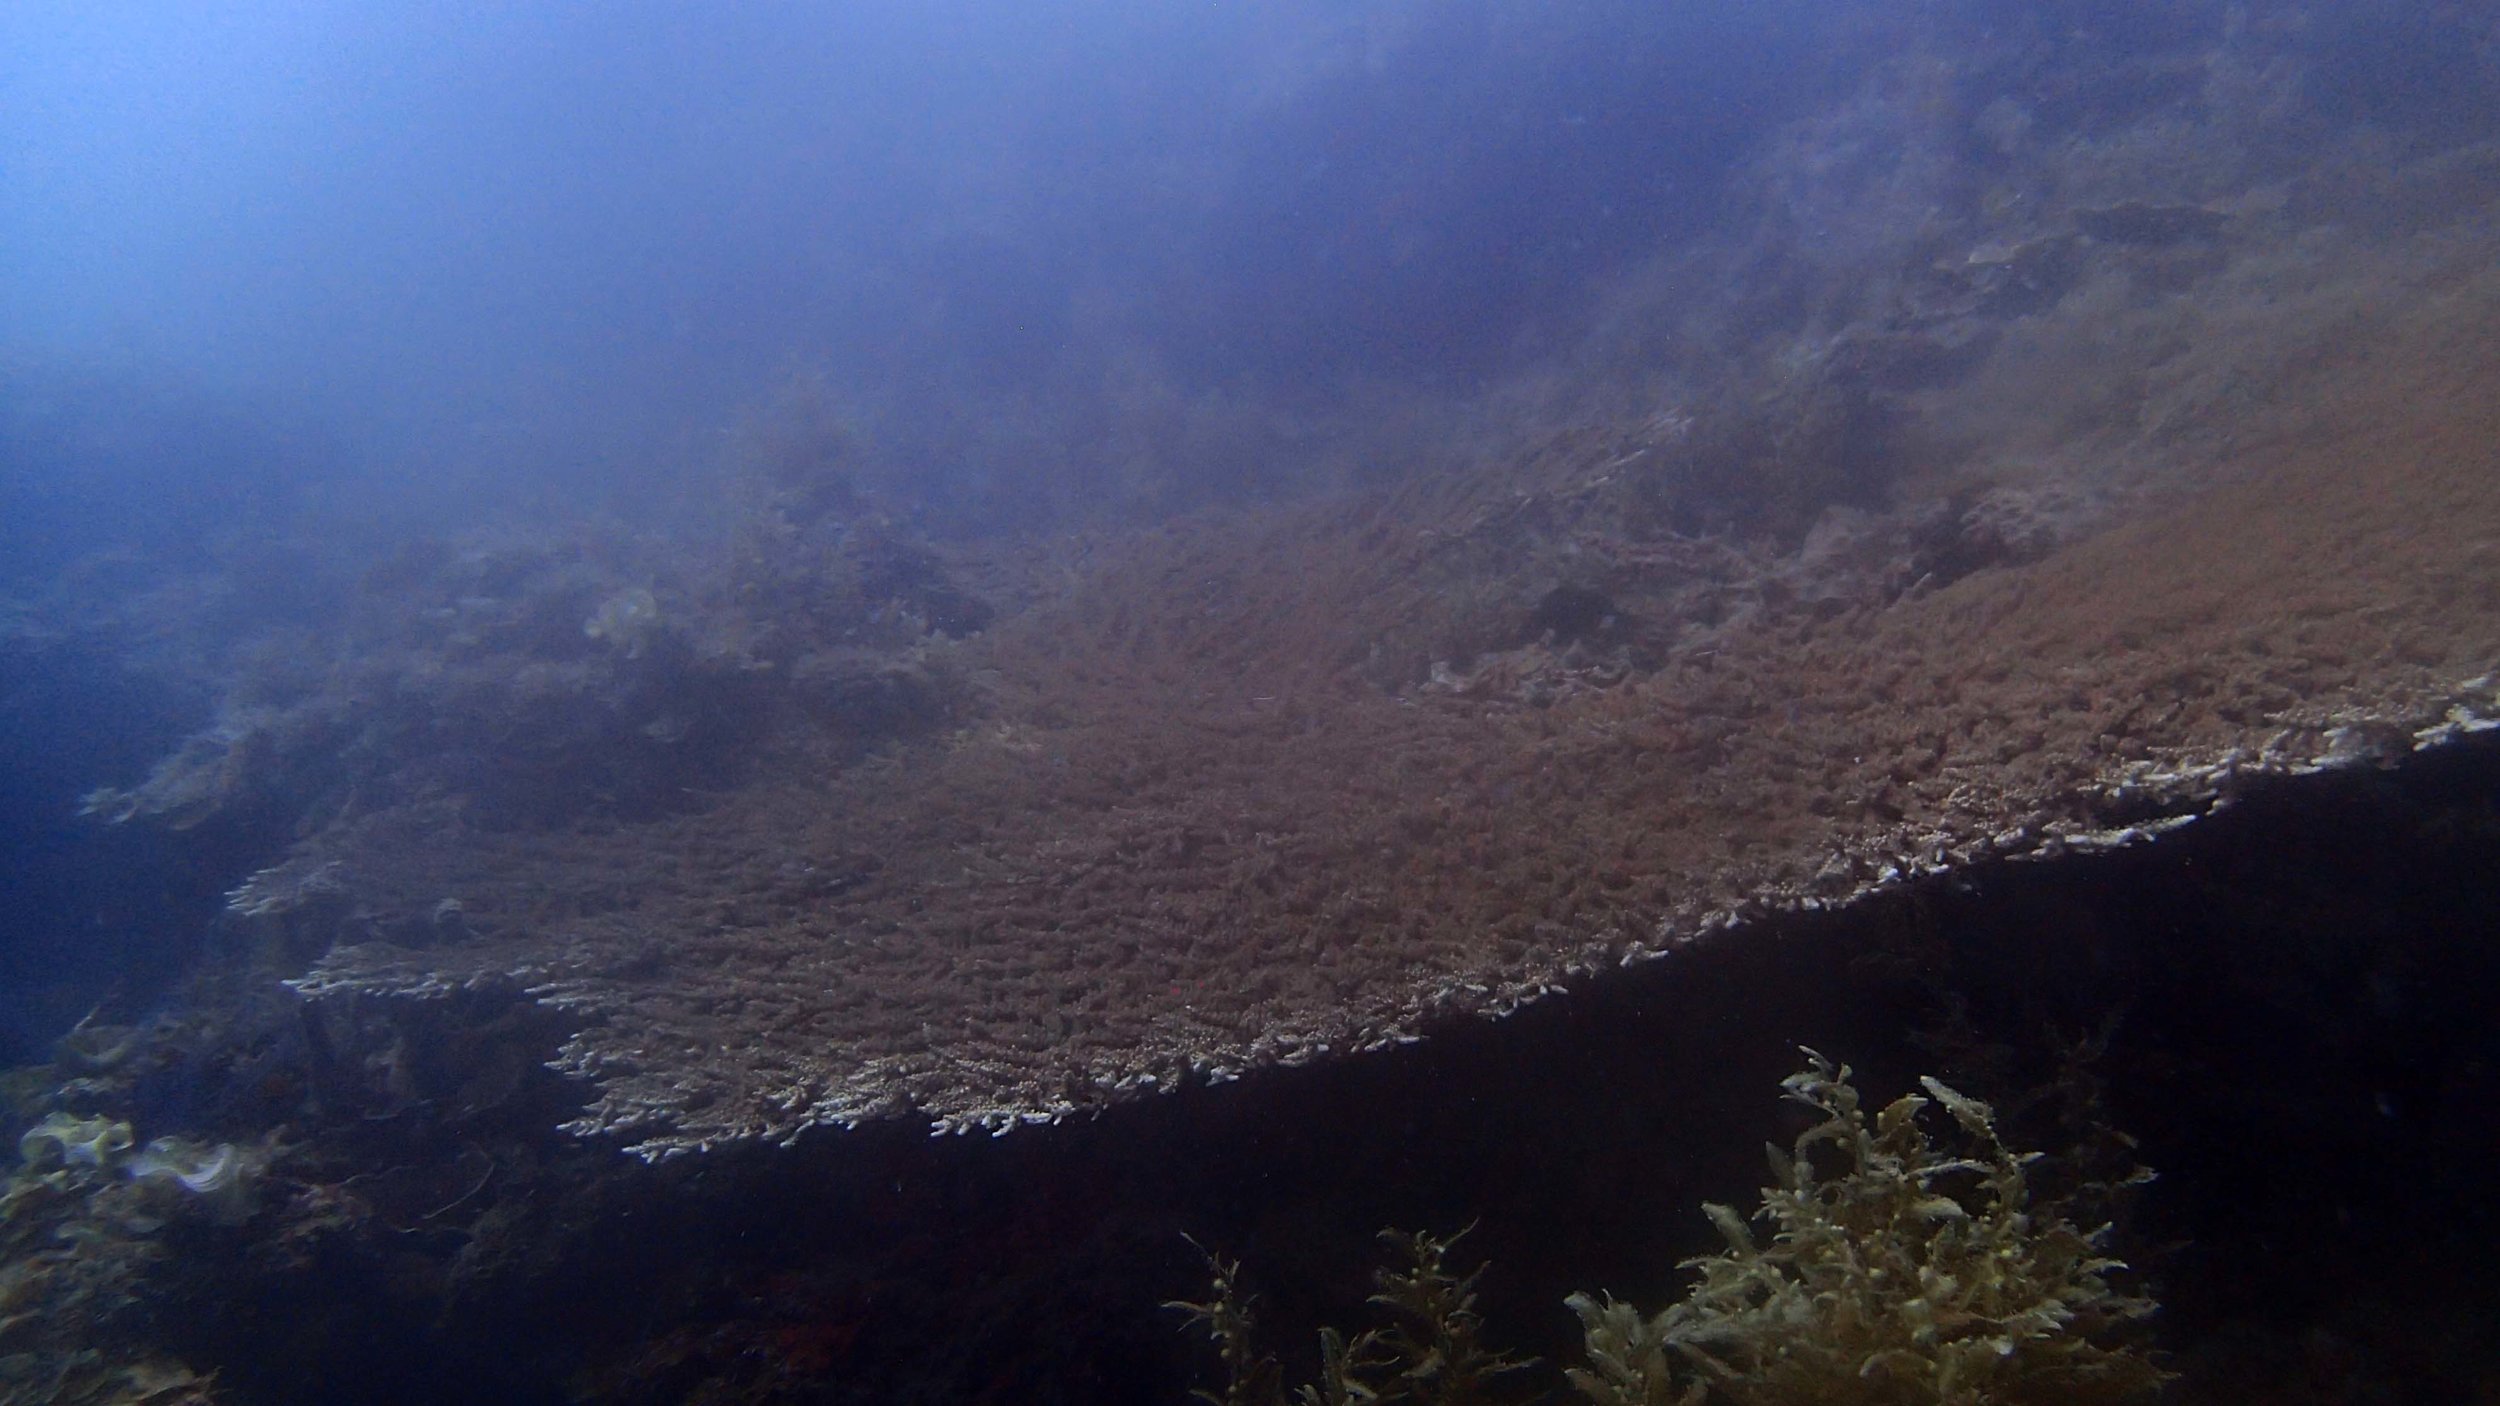
<path fill-rule="evenodd" d="M 2392 761 L 2500 716 L 2488 303 L 2432 290 L 2192 488 L 1945 583 L 1790 590 L 1608 535 L 1592 505 L 1640 445 L 1602 435 L 1498 488 L 1105 545 L 962 643 L 980 708 L 868 763 L 635 823 L 490 828 L 458 798 L 340 821 L 290 871 L 395 941 L 300 988 L 560 1006 L 598 1086 L 578 1131 L 645 1156 L 1005 1128 L 1500 1013 L 1750 913 L 2125 843 L 2252 773 Z M 1602 568 L 1602 618 L 1540 603 L 1570 573 L 1455 585 L 1522 538 Z M 1748 608 L 1665 618 L 1712 570 Z M 1425 658 L 1505 610 L 1512 635 Z"/>

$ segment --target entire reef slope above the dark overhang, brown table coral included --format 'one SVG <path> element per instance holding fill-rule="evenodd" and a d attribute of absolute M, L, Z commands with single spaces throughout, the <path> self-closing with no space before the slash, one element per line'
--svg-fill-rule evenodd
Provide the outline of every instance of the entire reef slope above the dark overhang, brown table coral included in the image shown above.
<path fill-rule="evenodd" d="M 658 1158 L 1382 1048 L 2488 728 L 2500 160 L 2128 13 L 1868 18 L 1475 463 L 975 553 L 800 395 L 722 543 L 405 548 L 95 813 L 255 816 L 238 943 L 562 1013 Z"/>

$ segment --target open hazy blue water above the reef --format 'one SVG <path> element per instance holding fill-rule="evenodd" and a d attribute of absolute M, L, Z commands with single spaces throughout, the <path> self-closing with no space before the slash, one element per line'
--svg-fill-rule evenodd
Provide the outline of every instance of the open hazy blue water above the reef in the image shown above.
<path fill-rule="evenodd" d="M 0 375 L 308 415 L 332 478 L 460 503 L 650 493 L 808 365 L 932 498 L 1048 498 L 1050 453 L 958 465 L 938 423 L 1022 393 L 985 433 L 1068 438 L 1108 368 L 1325 408 L 1538 355 L 1710 218 L 1840 13 L 10 5 Z"/>

